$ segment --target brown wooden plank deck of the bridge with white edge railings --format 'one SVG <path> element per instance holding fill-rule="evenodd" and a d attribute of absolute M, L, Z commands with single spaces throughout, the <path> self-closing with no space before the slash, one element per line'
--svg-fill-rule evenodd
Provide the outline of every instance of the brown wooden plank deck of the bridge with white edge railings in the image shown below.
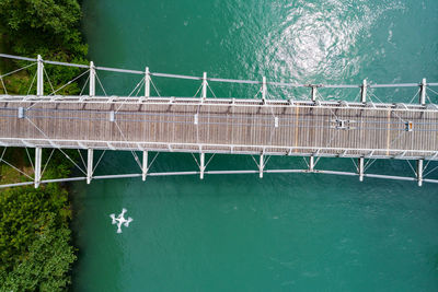
<path fill-rule="evenodd" d="M 0 144 L 434 160 L 438 152 L 438 109 L 419 105 L 20 98 L 0 100 Z"/>

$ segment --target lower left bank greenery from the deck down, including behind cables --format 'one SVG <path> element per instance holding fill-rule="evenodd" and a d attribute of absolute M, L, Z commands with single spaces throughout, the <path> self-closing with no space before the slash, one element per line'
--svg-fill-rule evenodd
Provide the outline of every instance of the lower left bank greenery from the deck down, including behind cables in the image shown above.
<path fill-rule="evenodd" d="M 32 149 L 1 149 L 2 160 L 32 175 Z M 77 160 L 79 153 L 65 151 Z M 44 179 L 67 177 L 71 167 L 64 153 L 43 151 Z M 27 177 L 2 164 L 0 183 Z M 70 283 L 76 260 L 71 245 L 71 206 L 59 184 L 14 187 L 0 191 L 0 291 L 59 291 Z"/>

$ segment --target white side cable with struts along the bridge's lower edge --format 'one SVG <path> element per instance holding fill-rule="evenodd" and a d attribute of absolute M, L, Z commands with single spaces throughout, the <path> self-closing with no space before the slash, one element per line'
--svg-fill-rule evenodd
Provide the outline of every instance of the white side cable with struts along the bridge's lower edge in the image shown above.
<path fill-rule="evenodd" d="M 145 154 L 146 153 L 146 154 Z M 154 155 L 153 155 L 154 154 Z M 136 153 L 137 159 L 136 164 L 138 164 L 138 172 L 131 172 L 126 174 L 97 174 L 97 166 L 102 163 L 102 157 L 105 155 L 105 151 L 101 152 L 101 155 L 97 160 L 87 159 L 84 157 L 85 165 L 80 166 L 76 164 L 77 167 L 76 173 L 79 175 L 73 177 L 66 177 L 66 178 L 56 178 L 56 179 L 44 179 L 44 172 L 41 174 L 39 177 L 32 177 L 32 174 L 24 174 L 30 179 L 20 183 L 12 183 L 12 184 L 2 184 L 0 185 L 1 188 L 8 187 L 19 187 L 19 186 L 30 186 L 34 185 L 35 187 L 39 186 L 39 184 L 50 184 L 50 183 L 68 183 L 68 182 L 87 182 L 90 184 L 92 180 L 102 180 L 102 179 L 114 179 L 114 178 L 138 178 L 142 179 L 143 182 L 147 180 L 147 177 L 166 177 L 166 176 L 198 176 L 200 179 L 204 179 L 205 176 L 210 175 L 256 175 L 260 178 L 263 178 L 265 175 L 270 174 L 285 174 L 285 175 L 293 175 L 293 174 L 323 174 L 323 175 L 341 175 L 341 176 L 350 176 L 357 177 L 360 182 L 364 182 L 366 178 L 378 178 L 378 179 L 391 179 L 391 180 L 400 180 L 400 182 L 416 182 L 418 185 L 423 185 L 424 183 L 428 184 L 438 184 L 438 178 L 436 176 L 430 176 L 430 174 L 437 171 L 437 165 L 430 164 L 428 162 L 426 165 L 422 165 L 422 173 L 420 178 L 418 178 L 418 170 L 415 170 L 415 166 L 408 162 L 410 167 L 412 168 L 412 176 L 406 175 L 388 175 L 388 174 L 380 174 L 378 172 L 372 172 L 371 166 L 376 162 L 376 159 L 365 159 L 365 160 L 351 160 L 351 171 L 338 171 L 334 168 L 326 168 L 320 167 L 319 161 L 321 157 L 311 157 L 310 160 L 306 157 L 292 157 L 295 162 L 291 164 L 297 164 L 297 160 L 302 159 L 306 164 L 306 167 L 285 167 L 279 168 L 278 166 L 268 167 L 268 162 L 270 155 L 263 154 L 260 157 L 255 155 L 251 155 L 254 160 L 254 167 L 253 168 L 244 168 L 244 170 L 215 170 L 214 167 L 209 166 L 210 161 L 215 157 L 216 153 L 209 154 L 209 156 L 193 156 L 195 160 L 198 170 L 193 171 L 181 171 L 181 170 L 173 170 L 173 171 L 160 171 L 153 170 L 153 164 L 157 163 L 155 159 L 159 156 L 160 152 L 143 152 L 142 156 L 142 164 L 141 164 L 141 152 Z M 82 154 L 81 154 L 82 155 Z M 89 152 L 90 155 L 90 152 Z M 205 154 L 207 155 L 207 154 Z M 51 155 L 50 155 L 51 156 Z M 47 164 L 50 162 L 50 156 L 48 160 L 43 162 L 44 168 L 46 168 Z M 139 156 L 139 157 L 138 157 Z M 89 156 L 90 157 L 90 156 Z M 150 160 L 152 157 L 152 160 Z M 5 160 L 0 160 L 2 163 L 10 164 L 10 162 Z M 12 164 L 10 164 L 12 165 Z M 16 170 L 18 172 L 22 172 Z M 374 170 L 376 171 L 376 170 Z M 408 170 L 406 170 L 408 171 Z"/>

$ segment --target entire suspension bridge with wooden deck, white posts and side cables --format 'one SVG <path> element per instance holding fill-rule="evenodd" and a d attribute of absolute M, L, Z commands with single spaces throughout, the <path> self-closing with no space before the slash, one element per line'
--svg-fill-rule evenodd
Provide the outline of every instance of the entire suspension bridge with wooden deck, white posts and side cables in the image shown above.
<path fill-rule="evenodd" d="M 25 175 L 27 182 L 3 184 L 14 187 L 42 183 L 141 177 L 166 175 L 258 174 L 266 173 L 319 173 L 365 177 L 438 183 L 427 177 L 436 168 L 430 163 L 438 161 L 438 106 L 428 92 L 438 83 L 324 85 L 232 80 L 203 77 L 166 74 L 149 71 L 126 70 L 90 65 L 74 65 L 0 54 L 2 58 L 28 61 L 30 65 L 1 74 L 4 90 L 0 95 L 0 147 L 3 152 L 0 163 L 5 163 Z M 78 77 L 54 89 L 45 70 L 46 65 L 77 67 L 83 70 Z M 26 95 L 8 94 L 3 79 L 21 70 L 35 68 L 33 83 L 36 92 Z M 140 75 L 142 79 L 126 96 L 108 95 L 97 72 L 110 71 Z M 64 87 L 87 77 L 81 94 L 59 95 Z M 199 82 L 194 97 L 160 96 L 153 79 L 170 78 Z M 51 93 L 45 94 L 45 82 Z M 210 84 L 252 84 L 260 90 L 255 96 L 245 98 L 217 97 Z M 96 84 L 103 95 L 96 95 Z M 83 94 L 88 85 L 88 94 Z M 309 90 L 308 98 L 297 96 L 269 97 L 269 89 L 289 87 Z M 374 89 L 416 89 L 408 103 L 384 103 L 371 91 Z M 323 89 L 357 90 L 357 101 L 327 101 Z M 47 90 L 46 90 L 47 92 Z M 157 96 L 152 96 L 154 92 Z M 199 96 L 197 96 L 199 94 Z M 211 97 L 207 95 L 212 95 Z M 23 173 L 3 159 L 7 148 L 35 149 L 32 160 L 33 175 Z M 70 160 L 81 176 L 44 179 L 43 149 L 78 149 L 87 152 L 83 165 Z M 130 151 L 138 164 L 132 174 L 94 175 L 102 160 L 94 152 Z M 81 153 L 80 151 L 78 151 Z M 182 172 L 150 172 L 161 152 L 192 153 L 197 168 Z M 53 153 L 53 152 L 51 152 Z M 105 153 L 105 152 L 103 152 Z M 151 153 L 155 153 L 152 157 Z M 28 152 L 27 152 L 28 154 Z M 254 160 L 254 170 L 209 170 L 215 154 L 244 154 Z M 207 156 L 206 159 L 206 155 Z M 304 168 L 269 168 L 272 155 L 302 156 Z M 51 154 L 50 154 L 51 156 Z M 321 157 L 351 159 L 355 172 L 330 171 L 316 167 Z M 287 159 L 287 157 L 285 157 Z M 376 160 L 403 160 L 411 166 L 413 176 L 368 173 Z M 207 160 L 207 162 L 206 162 Z M 49 161 L 49 160 L 48 160 Z M 47 161 L 47 163 L 48 163 Z M 46 165 L 47 165 L 46 163 Z M 43 168 L 43 170 L 42 170 Z M 429 170 L 433 168 L 433 170 Z"/>

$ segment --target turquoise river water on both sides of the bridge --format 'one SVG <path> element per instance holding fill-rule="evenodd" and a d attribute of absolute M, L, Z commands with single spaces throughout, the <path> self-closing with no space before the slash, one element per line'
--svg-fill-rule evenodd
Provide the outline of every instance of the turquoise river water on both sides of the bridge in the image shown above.
<path fill-rule="evenodd" d="M 299 83 L 438 81 L 438 2 L 83 1 L 96 65 Z M 100 73 L 112 94 L 138 77 Z M 154 79 L 161 95 L 193 96 L 196 82 Z M 218 96 L 258 89 L 210 84 Z M 272 96 L 309 92 L 268 89 Z M 380 90 L 408 102 L 416 90 Z M 321 91 L 353 101 L 357 91 Z M 429 97 L 438 100 L 434 93 Z M 100 153 L 96 153 L 96 160 Z M 306 167 L 272 157 L 267 167 Z M 434 165 L 435 166 L 435 165 Z M 137 167 L 137 168 L 136 168 Z M 160 154 L 151 171 L 195 170 L 189 154 Z M 209 170 L 254 168 L 216 155 Z M 354 171 L 350 160 L 320 168 Z M 406 163 L 374 173 L 413 175 Z M 131 153 L 105 153 L 96 174 L 132 173 Z M 437 177 L 436 174 L 429 177 Z M 71 186 L 79 261 L 76 291 L 436 291 L 438 187 L 330 175 L 148 177 Z M 110 214 L 134 218 L 116 234 Z"/>

